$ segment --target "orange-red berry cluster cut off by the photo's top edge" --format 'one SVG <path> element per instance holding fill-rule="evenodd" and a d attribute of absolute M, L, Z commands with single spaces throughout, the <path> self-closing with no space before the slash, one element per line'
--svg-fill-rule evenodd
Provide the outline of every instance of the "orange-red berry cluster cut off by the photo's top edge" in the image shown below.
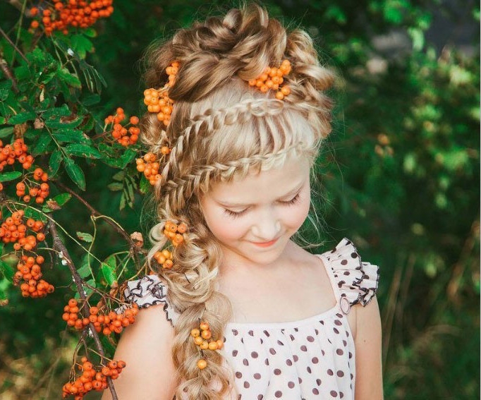
<path fill-rule="evenodd" d="M 50 36 L 54 30 L 68 33 L 68 28 L 88 28 L 99 18 L 107 18 L 114 12 L 112 0 L 52 0 L 53 5 L 43 3 L 42 12 L 37 7 L 30 8 L 30 16 L 40 16 L 39 20 L 32 20 L 30 28 L 37 29 L 40 22 L 44 25 L 45 35 Z"/>

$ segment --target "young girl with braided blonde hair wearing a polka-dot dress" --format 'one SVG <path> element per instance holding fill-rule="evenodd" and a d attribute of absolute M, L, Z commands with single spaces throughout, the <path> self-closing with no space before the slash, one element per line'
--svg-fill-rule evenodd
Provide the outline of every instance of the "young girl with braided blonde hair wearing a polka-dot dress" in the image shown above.
<path fill-rule="evenodd" d="M 321 255 L 292 240 L 332 82 L 310 37 L 259 6 L 152 49 L 156 274 L 128 283 L 142 310 L 116 350 L 119 399 L 382 399 L 377 267 L 347 239 Z"/>

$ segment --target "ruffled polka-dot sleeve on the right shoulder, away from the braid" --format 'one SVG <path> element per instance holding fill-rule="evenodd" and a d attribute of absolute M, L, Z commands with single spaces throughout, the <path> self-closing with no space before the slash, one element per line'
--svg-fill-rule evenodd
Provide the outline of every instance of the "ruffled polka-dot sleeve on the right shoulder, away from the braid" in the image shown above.
<path fill-rule="evenodd" d="M 358 250 L 343 238 L 334 250 L 323 253 L 326 269 L 341 310 L 348 313 L 351 305 L 366 305 L 377 291 L 379 267 L 360 259 Z"/>

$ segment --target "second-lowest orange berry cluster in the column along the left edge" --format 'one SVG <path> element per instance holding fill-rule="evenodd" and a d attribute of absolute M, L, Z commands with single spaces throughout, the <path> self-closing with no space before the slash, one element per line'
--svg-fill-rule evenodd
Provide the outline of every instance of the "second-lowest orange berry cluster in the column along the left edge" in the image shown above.
<path fill-rule="evenodd" d="M 1 213 L 0 213 L 1 217 Z M 0 226 L 0 238 L 4 243 L 14 243 L 13 248 L 15 250 L 32 250 L 37 246 L 37 241 L 41 242 L 45 240 L 45 235 L 39 232 L 44 227 L 42 221 L 35 221 L 33 218 L 28 218 L 25 222 L 23 210 L 13 212 L 10 217 L 7 217 Z M 34 235 L 27 234 L 27 228 L 37 232 Z"/>

